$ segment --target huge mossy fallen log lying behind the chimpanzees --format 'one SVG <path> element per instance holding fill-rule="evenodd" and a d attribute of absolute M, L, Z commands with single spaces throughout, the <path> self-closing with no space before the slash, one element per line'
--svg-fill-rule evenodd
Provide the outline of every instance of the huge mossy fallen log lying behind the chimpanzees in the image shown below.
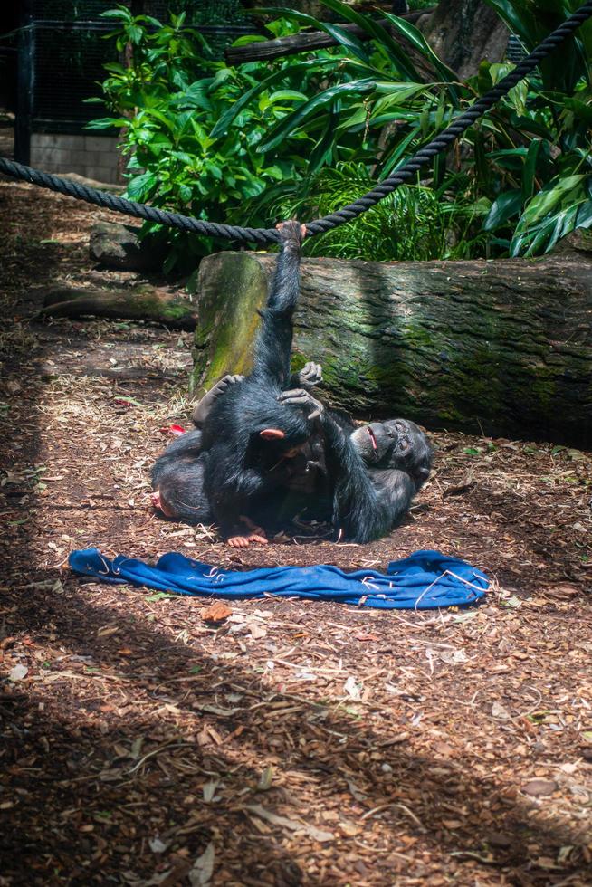
<path fill-rule="evenodd" d="M 293 368 L 353 415 L 592 444 L 592 255 L 537 261 L 306 259 Z M 250 367 L 275 256 L 218 253 L 198 278 L 192 389 Z"/>

